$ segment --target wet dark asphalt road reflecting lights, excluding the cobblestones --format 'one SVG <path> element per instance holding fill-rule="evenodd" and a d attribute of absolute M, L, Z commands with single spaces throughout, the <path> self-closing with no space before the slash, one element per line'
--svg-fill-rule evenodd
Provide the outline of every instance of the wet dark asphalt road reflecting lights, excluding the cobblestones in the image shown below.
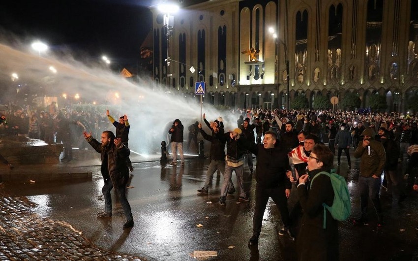
<path fill-rule="evenodd" d="M 337 173 L 348 182 L 353 217 L 359 215 L 358 160 L 353 169 L 342 158 Z M 135 163 L 127 190 L 135 226 L 123 231 L 124 215 L 119 201 L 112 193 L 113 216 L 97 220 L 103 210 L 103 185 L 100 169 L 91 167 L 93 179 L 88 182 L 35 183 L 6 185 L 11 195 L 28 196 L 37 203 L 34 211 L 42 217 L 71 224 L 94 244 L 105 249 L 148 260 L 189 260 L 194 250 L 217 251 L 210 260 L 296 260 L 296 244 L 277 234 L 281 226 L 279 212 L 270 200 L 267 206 L 258 248 L 248 248 L 252 235 L 255 180 L 249 177 L 245 189 L 250 201 L 240 202 L 238 194 L 228 196 L 226 206 L 218 204 L 222 176 L 214 175 L 209 194 L 198 194 L 203 187 L 209 160 L 188 160 L 185 166 L 159 162 Z M 255 164 L 255 162 L 254 162 Z M 400 170 L 399 170 L 400 171 Z M 233 182 L 236 184 L 235 175 Z M 375 214 L 369 204 L 370 226 L 357 227 L 352 221 L 340 226 L 340 260 L 417 260 L 418 203 L 412 193 L 401 207 L 391 205 L 391 196 L 381 191 L 386 226 L 377 229 Z M 289 208 L 297 201 L 292 189 Z M 198 228 L 201 224 L 203 227 Z M 295 229 L 297 229 L 295 227 Z M 404 229 L 404 230 L 403 230 Z M 234 246 L 234 248 L 229 248 Z"/>

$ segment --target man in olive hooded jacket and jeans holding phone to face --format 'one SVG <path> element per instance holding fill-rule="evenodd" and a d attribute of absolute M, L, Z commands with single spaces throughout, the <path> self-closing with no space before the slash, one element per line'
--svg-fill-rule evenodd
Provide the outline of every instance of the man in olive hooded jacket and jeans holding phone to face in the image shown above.
<path fill-rule="evenodd" d="M 379 191 L 381 175 L 386 163 L 385 148 L 382 143 L 374 139 L 375 133 L 366 128 L 362 133 L 363 141 L 358 143 L 354 157 L 360 158 L 360 175 L 358 187 L 360 189 L 361 216 L 354 220 L 355 224 L 368 225 L 367 206 L 369 195 L 377 214 L 377 226 L 383 226 L 382 205 Z"/>

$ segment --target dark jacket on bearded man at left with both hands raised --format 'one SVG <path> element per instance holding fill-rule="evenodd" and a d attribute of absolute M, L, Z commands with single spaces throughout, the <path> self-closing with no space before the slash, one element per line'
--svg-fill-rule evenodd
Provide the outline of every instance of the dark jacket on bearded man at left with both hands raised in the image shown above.
<path fill-rule="evenodd" d="M 103 179 L 106 181 L 110 178 L 116 189 L 126 186 L 129 179 L 129 169 L 126 165 L 126 159 L 129 157 L 130 150 L 125 145 L 117 148 L 113 141 L 108 146 L 103 147 L 92 136 L 86 138 L 86 140 L 95 151 L 100 153 Z"/>

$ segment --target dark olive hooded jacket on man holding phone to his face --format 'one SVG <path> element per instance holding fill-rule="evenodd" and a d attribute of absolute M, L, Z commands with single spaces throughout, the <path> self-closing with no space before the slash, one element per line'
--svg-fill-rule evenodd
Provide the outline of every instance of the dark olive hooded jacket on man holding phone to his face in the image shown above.
<path fill-rule="evenodd" d="M 360 158 L 360 176 L 371 177 L 373 175 L 380 176 L 385 164 L 386 164 L 386 153 L 382 143 L 374 139 L 374 131 L 370 128 L 366 128 L 361 136 L 370 136 L 370 152 L 367 147 L 363 147 L 363 141 L 360 140 L 357 149 L 354 152 L 354 157 Z"/>

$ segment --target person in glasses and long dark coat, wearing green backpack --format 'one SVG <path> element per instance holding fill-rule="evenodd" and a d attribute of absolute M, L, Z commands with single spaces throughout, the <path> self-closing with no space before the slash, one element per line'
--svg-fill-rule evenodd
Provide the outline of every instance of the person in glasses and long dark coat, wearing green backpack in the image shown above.
<path fill-rule="evenodd" d="M 298 234 L 298 261 L 332 261 L 339 260 L 338 222 L 322 205 L 332 206 L 334 191 L 327 175 L 330 172 L 334 155 L 326 145 L 317 144 L 308 160 L 308 174 L 299 178 L 298 196 L 303 209 L 302 224 Z M 306 188 L 308 178 L 316 176 L 311 188 Z M 326 228 L 324 228 L 324 211 L 326 211 Z"/>

